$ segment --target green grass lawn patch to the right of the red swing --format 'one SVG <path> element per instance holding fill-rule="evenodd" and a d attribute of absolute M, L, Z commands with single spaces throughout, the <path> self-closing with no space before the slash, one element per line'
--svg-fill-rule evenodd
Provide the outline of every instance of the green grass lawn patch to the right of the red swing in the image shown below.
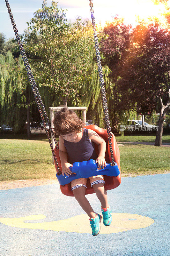
<path fill-rule="evenodd" d="M 163 173 L 170 171 L 170 148 L 150 145 L 120 147 L 121 172 L 132 174 Z"/>

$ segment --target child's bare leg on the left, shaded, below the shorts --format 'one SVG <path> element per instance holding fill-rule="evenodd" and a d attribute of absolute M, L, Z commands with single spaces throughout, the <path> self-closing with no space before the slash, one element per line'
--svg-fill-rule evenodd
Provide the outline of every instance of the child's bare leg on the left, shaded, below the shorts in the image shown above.
<path fill-rule="evenodd" d="M 85 187 L 75 188 L 73 189 L 73 194 L 81 208 L 88 214 L 90 218 L 95 218 L 96 214 L 92 209 L 89 201 L 85 197 Z"/>

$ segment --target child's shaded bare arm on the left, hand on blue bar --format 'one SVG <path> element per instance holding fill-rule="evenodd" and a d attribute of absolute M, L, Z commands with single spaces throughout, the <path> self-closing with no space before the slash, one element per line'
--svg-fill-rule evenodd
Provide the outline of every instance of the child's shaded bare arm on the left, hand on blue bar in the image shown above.
<path fill-rule="evenodd" d="M 62 166 L 62 174 L 64 176 L 64 173 L 69 176 L 71 174 L 70 168 L 72 167 L 72 164 L 67 162 L 67 150 L 64 146 L 64 140 L 62 136 L 59 136 L 59 156 L 61 160 L 61 166 Z"/>

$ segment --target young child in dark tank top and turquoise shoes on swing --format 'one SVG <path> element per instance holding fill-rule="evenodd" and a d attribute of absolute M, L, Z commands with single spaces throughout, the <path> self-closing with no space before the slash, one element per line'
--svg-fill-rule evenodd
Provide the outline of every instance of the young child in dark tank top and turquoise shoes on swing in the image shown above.
<path fill-rule="evenodd" d="M 59 156 L 62 166 L 62 174 L 71 174 L 70 168 L 74 162 L 96 160 L 99 168 L 106 166 L 105 151 L 106 142 L 93 130 L 85 129 L 85 124 L 68 108 L 57 111 L 54 117 L 54 131 L 59 136 Z M 94 144 L 98 145 L 99 155 L 95 152 Z M 101 203 L 103 223 L 110 226 L 112 222 L 111 210 L 107 203 L 107 192 L 104 188 L 103 175 L 89 178 L 81 178 L 71 181 L 71 190 L 82 209 L 90 217 L 92 235 L 97 236 L 100 232 L 101 215 L 94 212 L 89 201 L 85 197 L 87 179 Z"/>

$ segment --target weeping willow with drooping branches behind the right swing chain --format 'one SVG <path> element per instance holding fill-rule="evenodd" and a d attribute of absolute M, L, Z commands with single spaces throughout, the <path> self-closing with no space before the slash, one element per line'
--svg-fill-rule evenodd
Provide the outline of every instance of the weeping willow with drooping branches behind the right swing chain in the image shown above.
<path fill-rule="evenodd" d="M 114 94 L 114 87 L 116 86 L 109 77 L 110 70 L 107 66 L 103 67 L 103 78 L 107 96 L 107 105 L 110 116 L 110 124 L 113 132 L 124 134 L 120 131 L 120 125 L 126 126 L 128 118 L 134 116 L 134 111 L 128 109 L 121 109 L 118 104 L 113 104 L 116 100 Z M 90 79 L 87 78 L 84 86 L 81 88 L 82 96 L 78 101 L 75 100 L 75 105 L 82 105 L 87 107 L 87 119 L 91 119 L 94 124 L 101 128 L 106 128 L 105 116 L 103 111 L 103 103 L 100 92 L 100 80 L 98 76 L 97 64 L 93 62 L 92 74 Z"/>

